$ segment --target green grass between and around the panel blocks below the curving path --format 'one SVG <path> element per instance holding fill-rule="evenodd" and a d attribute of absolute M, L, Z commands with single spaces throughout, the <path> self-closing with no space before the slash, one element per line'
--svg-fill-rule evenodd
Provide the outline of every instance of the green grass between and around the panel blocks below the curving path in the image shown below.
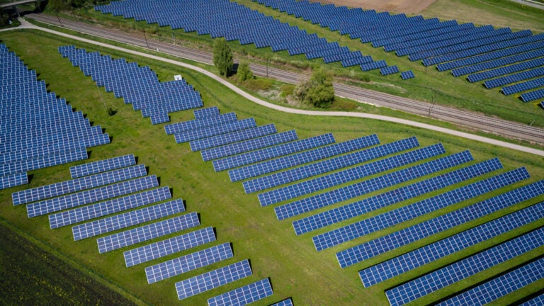
<path fill-rule="evenodd" d="M 232 242 L 234 259 L 184 276 L 147 285 L 143 266 L 171 259 L 180 256 L 180 254 L 152 261 L 149 264 L 125 268 L 123 251 L 126 249 L 99 255 L 94 239 L 74 242 L 69 227 L 51 230 L 47 217 L 36 217 L 29 220 L 26 217 L 24 207 L 13 207 L 11 205 L 11 193 L 13 191 L 69 179 L 68 166 L 72 164 L 31 171 L 30 174 L 33 175 L 33 179 L 28 186 L 11 188 L 0 193 L 2 203 L 0 215 L 4 220 L 9 221 L 9 227 L 20 229 L 24 235 L 59 252 L 64 259 L 76 263 L 74 264 L 75 268 L 84 273 L 91 273 L 111 290 L 125 295 L 130 300 L 134 300 L 140 305 L 205 305 L 205 300 L 208 297 L 224 293 L 250 281 L 270 277 L 275 294 L 273 297 L 269 297 L 255 305 L 269 305 L 289 296 L 293 297 L 295 305 L 386 305 L 387 301 L 383 294 L 385 288 L 436 268 L 436 266 L 424 267 L 414 273 L 407 273 L 402 278 L 394 278 L 372 288 L 363 288 L 356 271 L 412 249 L 415 244 L 346 269 L 339 268 L 334 256 L 335 252 L 368 241 L 385 234 L 385 232 L 392 232 L 400 227 L 407 227 L 416 222 L 421 222 L 430 216 L 419 217 L 416 220 L 395 227 L 395 229 L 387 229 L 385 232 L 361 237 L 361 239 L 356 239 L 348 244 L 317 253 L 314 251 L 311 237 L 314 234 L 324 232 L 324 230 L 296 237 L 290 224 L 291 220 L 278 222 L 273 213 L 273 208 L 261 208 L 255 195 L 244 194 L 241 183 L 230 183 L 225 172 L 216 174 L 210 163 L 202 162 L 200 154 L 190 152 L 188 145 L 176 145 L 174 138 L 165 135 L 161 126 L 150 125 L 148 118 L 142 118 L 140 113 L 132 111 L 132 108 L 126 106 L 121 99 L 115 99 L 113 94 L 97 88 L 90 77 L 84 77 L 79 69 L 72 67 L 72 64 L 67 59 L 63 59 L 57 52 L 57 47 L 60 45 L 72 45 L 75 42 L 29 31 L 1 33 L 0 39 L 12 51 L 16 52 L 28 64 L 30 69 L 37 70 L 40 79 L 47 82 L 50 91 L 55 91 L 58 96 L 66 98 L 77 111 L 84 111 L 95 125 L 101 125 L 113 137 L 110 145 L 91 148 L 90 160 L 106 159 L 122 154 L 135 154 L 140 164 L 149 167 L 150 174 L 157 174 L 160 177 L 162 186 L 172 188 L 174 198 L 183 198 L 186 201 L 187 211 L 199 212 L 202 227 L 215 227 L 217 242 Z M 79 43 L 77 43 L 77 46 L 86 47 L 89 51 L 96 50 L 92 46 Z M 199 76 L 196 72 L 181 69 L 180 67 L 172 67 L 161 62 L 135 58 L 130 55 L 116 54 L 109 50 L 101 51 L 106 54 L 113 54 L 114 57 L 125 57 L 129 61 L 137 61 L 142 66 L 149 65 L 157 72 L 159 79 L 162 81 L 173 79 L 174 74 L 182 74 L 189 84 L 192 84 L 196 90 L 200 91 L 206 107 L 218 106 L 222 113 L 235 111 L 241 119 L 256 118 L 259 125 L 275 123 L 278 131 L 295 129 L 300 138 L 334 132 L 336 141 L 339 142 L 377 133 L 381 142 L 387 143 L 416 135 L 421 146 L 442 142 L 448 153 L 470 149 L 477 162 L 499 157 L 504 164 L 505 171 L 519 166 L 527 166 L 532 175 L 530 181 L 544 179 L 544 159 L 541 157 L 534 157 L 523 152 L 509 151 L 491 145 L 482 145 L 428 130 L 404 127 L 403 125 L 355 118 L 310 118 L 278 113 L 256 106 L 244 100 L 244 98 L 232 94 L 215 81 Z M 117 110 L 118 113 L 109 116 L 106 113 L 104 104 Z M 193 118 L 191 111 L 175 113 L 171 116 L 172 122 L 190 120 L 191 118 Z M 462 185 L 458 184 L 452 188 Z M 515 186 L 521 186 L 521 183 Z M 387 190 L 391 189 L 388 188 Z M 503 188 L 501 192 L 508 189 L 510 188 Z M 375 194 L 377 193 L 370 193 L 368 196 Z M 414 200 L 420 200 L 421 198 L 426 198 L 426 196 Z M 475 203 L 477 200 L 482 200 L 482 198 L 465 201 L 455 205 L 455 208 Z M 512 210 L 523 208 L 541 200 L 544 200 L 544 197 L 521 203 L 512 209 L 503 210 L 484 220 L 504 215 Z M 395 207 L 406 204 L 399 203 Z M 379 210 L 378 212 L 383 211 Z M 441 210 L 441 213 L 445 211 L 448 210 Z M 373 214 L 364 217 L 370 215 Z M 453 232 L 459 232 L 480 222 L 483 222 L 483 220 L 470 222 L 470 224 L 463 227 L 425 239 L 421 244 L 427 244 L 441 237 L 446 237 Z M 544 225 L 544 220 L 524 227 L 519 232 L 502 235 L 492 242 L 479 244 L 460 254 L 450 256 L 446 261 L 440 261 L 436 265 L 458 260 L 467 254 L 485 249 L 491 244 L 497 244 L 542 225 Z M 509 261 L 492 271 L 488 271 L 485 276 L 477 276 L 477 278 L 483 279 L 484 277 L 487 278 L 502 273 L 521 261 L 539 256 L 542 252 L 543 249 L 538 249 L 519 260 Z M 12 254 L 11 256 L 16 255 Z M 202 295 L 196 295 L 182 302 L 177 300 L 174 289 L 176 281 L 242 259 L 251 260 L 254 271 L 254 276 L 251 276 L 251 278 L 244 280 L 244 282 L 236 282 L 211 290 Z M 455 286 L 455 290 L 467 288 L 473 281 L 479 280 L 460 283 Z M 509 297 L 499 305 L 506 305 L 509 302 L 518 300 L 521 296 L 534 293 L 543 288 L 543 285 L 543 282 L 538 282 L 528 286 L 521 295 Z M 33 284 L 30 284 L 30 286 L 33 286 Z M 433 300 L 446 295 L 448 295 L 448 292 L 441 291 L 438 295 L 433 295 Z M 426 301 L 431 302 L 432 300 Z"/>

